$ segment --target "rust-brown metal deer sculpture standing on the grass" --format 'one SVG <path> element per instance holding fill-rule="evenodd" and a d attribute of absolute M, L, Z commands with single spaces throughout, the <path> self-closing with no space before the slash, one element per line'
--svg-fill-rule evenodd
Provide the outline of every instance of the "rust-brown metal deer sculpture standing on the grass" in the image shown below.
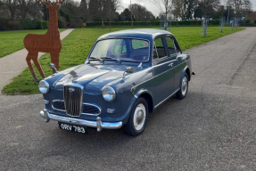
<path fill-rule="evenodd" d="M 38 1 L 41 4 L 46 4 L 46 8 L 49 10 L 48 30 L 45 35 L 29 34 L 24 38 L 24 45 L 29 51 L 26 61 L 35 81 L 37 81 L 37 76 L 32 67 L 31 60 L 34 61 L 40 75 L 45 78 L 45 73 L 37 59 L 39 52 L 50 53 L 51 61 L 55 64 L 56 68 L 59 69 L 59 55 L 62 49 L 62 42 L 58 28 L 57 9 L 59 4 L 62 4 L 64 0 L 56 0 L 55 2 L 48 0 Z"/>

